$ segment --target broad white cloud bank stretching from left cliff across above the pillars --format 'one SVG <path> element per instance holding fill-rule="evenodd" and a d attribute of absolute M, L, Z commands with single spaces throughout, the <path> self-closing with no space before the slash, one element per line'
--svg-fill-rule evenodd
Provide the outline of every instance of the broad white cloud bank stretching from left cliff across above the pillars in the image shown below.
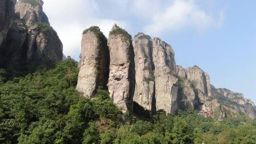
<path fill-rule="evenodd" d="M 136 34 L 161 36 L 172 31 L 218 28 L 224 10 L 218 15 L 202 9 L 195 0 L 44 0 L 44 11 L 64 45 L 64 54 L 78 60 L 82 31 L 99 26 L 106 37 L 114 23 Z"/>

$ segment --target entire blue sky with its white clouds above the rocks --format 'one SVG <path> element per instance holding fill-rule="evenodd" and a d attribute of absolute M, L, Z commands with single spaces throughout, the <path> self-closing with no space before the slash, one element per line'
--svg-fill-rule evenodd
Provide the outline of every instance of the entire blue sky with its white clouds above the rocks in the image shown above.
<path fill-rule="evenodd" d="M 114 23 L 132 36 L 144 32 L 172 45 L 176 63 L 198 65 L 217 88 L 256 102 L 256 1 L 44 0 L 44 11 L 64 45 L 79 60 L 82 30 L 105 36 Z"/>

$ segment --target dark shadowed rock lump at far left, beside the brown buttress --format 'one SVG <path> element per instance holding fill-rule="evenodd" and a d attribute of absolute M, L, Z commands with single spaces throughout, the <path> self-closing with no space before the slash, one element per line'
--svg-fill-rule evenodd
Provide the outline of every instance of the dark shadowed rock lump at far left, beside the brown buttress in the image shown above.
<path fill-rule="evenodd" d="M 22 22 L 15 21 L 8 30 L 7 38 L 1 46 L 3 65 L 7 69 L 18 69 L 26 63 L 27 30 Z"/>

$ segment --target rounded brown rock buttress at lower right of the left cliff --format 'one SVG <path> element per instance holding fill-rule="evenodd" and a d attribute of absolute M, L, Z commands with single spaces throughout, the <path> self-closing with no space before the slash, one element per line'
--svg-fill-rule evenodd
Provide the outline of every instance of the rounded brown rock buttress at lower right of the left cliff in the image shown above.
<path fill-rule="evenodd" d="M 40 23 L 28 28 L 27 61 L 61 61 L 63 45 L 55 30 Z"/>

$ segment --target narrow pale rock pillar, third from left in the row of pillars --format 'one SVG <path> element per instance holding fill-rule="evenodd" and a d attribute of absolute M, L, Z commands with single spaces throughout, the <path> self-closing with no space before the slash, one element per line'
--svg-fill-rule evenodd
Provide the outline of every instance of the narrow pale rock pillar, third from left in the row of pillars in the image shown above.
<path fill-rule="evenodd" d="M 134 37 L 136 84 L 133 101 L 146 110 L 152 110 L 155 96 L 153 43 L 150 36 L 140 33 Z"/>

